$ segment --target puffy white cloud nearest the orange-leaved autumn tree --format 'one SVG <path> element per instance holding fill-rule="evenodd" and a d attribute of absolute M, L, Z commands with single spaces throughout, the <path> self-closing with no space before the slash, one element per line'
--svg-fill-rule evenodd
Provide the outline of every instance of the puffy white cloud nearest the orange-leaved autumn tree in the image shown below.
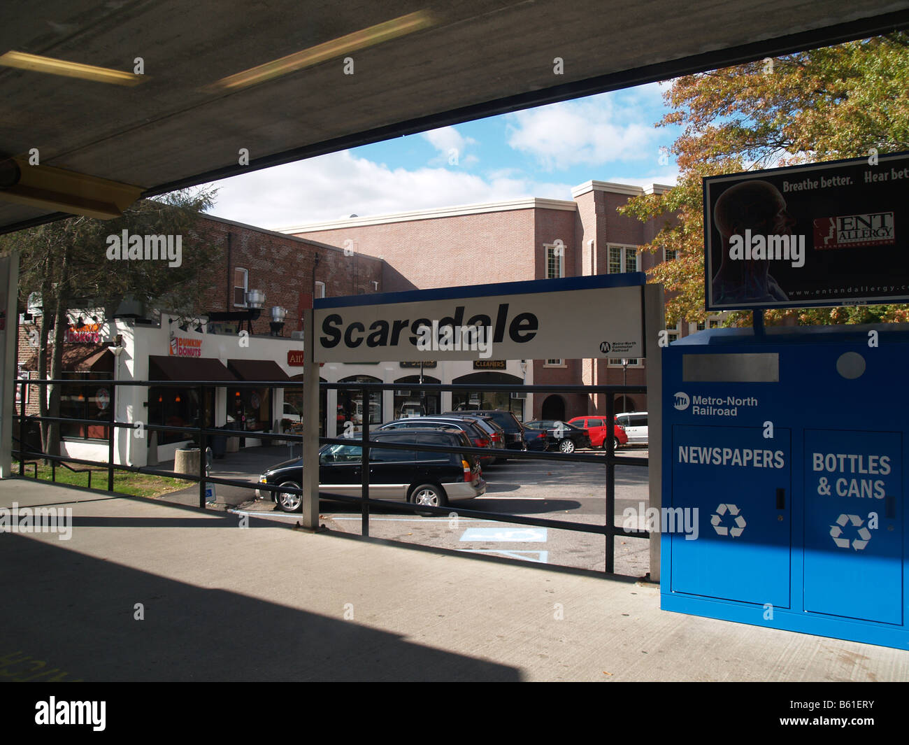
<path fill-rule="evenodd" d="M 655 121 L 658 106 L 653 84 L 516 112 L 509 116 L 508 145 L 547 169 L 652 158 L 665 136 L 642 120 Z"/>

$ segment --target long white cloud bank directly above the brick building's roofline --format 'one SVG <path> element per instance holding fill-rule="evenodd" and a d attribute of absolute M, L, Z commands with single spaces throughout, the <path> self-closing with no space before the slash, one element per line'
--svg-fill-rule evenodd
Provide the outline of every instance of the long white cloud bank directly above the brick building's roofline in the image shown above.
<path fill-rule="evenodd" d="M 235 176 L 216 186 L 213 215 L 272 229 L 524 196 L 571 199 L 569 184 L 537 182 L 510 170 L 484 177 L 445 168 L 389 168 L 349 150 Z"/>

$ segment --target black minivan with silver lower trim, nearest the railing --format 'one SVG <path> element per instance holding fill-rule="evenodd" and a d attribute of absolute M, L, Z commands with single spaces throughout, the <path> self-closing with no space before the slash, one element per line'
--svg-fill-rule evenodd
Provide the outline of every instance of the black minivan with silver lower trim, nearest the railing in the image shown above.
<path fill-rule="evenodd" d="M 361 436 L 362 437 L 362 436 Z M 421 446 L 470 448 L 464 432 L 438 429 L 385 430 L 370 433 L 380 443 L 413 445 L 413 449 L 370 448 L 369 496 L 418 505 L 445 507 L 450 501 L 472 499 L 486 491 L 480 461 L 469 453 L 421 450 Z M 355 442 L 325 445 L 319 450 L 319 494 L 359 497 L 362 494 L 363 448 Z M 259 477 L 260 484 L 300 488 L 303 458 L 285 460 Z M 290 492 L 256 489 L 256 498 L 270 498 L 285 512 L 299 512 L 303 497 Z"/>

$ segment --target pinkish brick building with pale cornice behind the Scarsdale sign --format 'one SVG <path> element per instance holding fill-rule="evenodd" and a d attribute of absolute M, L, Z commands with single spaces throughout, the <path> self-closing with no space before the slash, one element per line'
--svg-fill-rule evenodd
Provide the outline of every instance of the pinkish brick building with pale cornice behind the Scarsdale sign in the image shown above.
<path fill-rule="evenodd" d="M 571 201 L 531 197 L 353 217 L 282 232 L 383 258 L 385 291 L 647 271 L 666 258 L 640 250 L 653 240 L 663 221 L 642 223 L 619 215 L 616 209 L 632 196 L 660 194 L 668 188 L 588 181 L 572 190 Z M 589 319 L 578 318 L 578 323 L 585 320 Z M 680 325 L 670 330 L 670 337 L 686 331 Z M 645 382 L 643 359 L 625 360 L 624 365 L 621 358 L 529 362 L 533 368 L 524 381 L 532 379 L 537 385 Z M 474 380 L 514 382 L 500 378 L 477 375 Z M 645 409 L 643 394 L 616 402 L 616 411 Z M 572 418 L 604 410 L 602 397 L 538 394 L 520 413 L 525 419 Z"/>

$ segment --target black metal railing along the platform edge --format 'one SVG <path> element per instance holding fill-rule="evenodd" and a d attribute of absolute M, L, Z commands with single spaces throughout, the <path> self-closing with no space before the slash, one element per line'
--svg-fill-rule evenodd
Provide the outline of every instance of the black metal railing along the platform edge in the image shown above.
<path fill-rule="evenodd" d="M 35 379 L 17 379 L 15 381 L 16 385 L 20 386 L 48 386 L 48 385 L 84 385 L 85 381 L 83 380 L 35 380 Z M 107 439 L 107 461 L 104 465 L 107 467 L 107 491 L 114 491 L 114 472 L 115 470 L 125 470 L 135 473 L 145 473 L 155 476 L 164 476 L 170 478 L 180 478 L 187 481 L 195 481 L 199 485 L 199 507 L 205 507 L 205 487 L 206 484 L 220 484 L 225 486 L 241 486 L 245 488 L 258 488 L 264 491 L 282 491 L 285 493 L 291 494 L 303 494 L 302 489 L 287 488 L 287 487 L 278 487 L 270 484 L 258 483 L 255 486 L 251 486 L 248 481 L 242 481 L 235 478 L 218 478 L 213 477 L 208 473 L 208 459 L 206 457 L 207 448 L 208 448 L 208 438 L 211 437 L 243 437 L 244 433 L 241 430 L 226 430 L 225 429 L 216 429 L 201 426 L 208 418 L 209 412 L 206 407 L 206 398 L 205 393 L 208 390 L 215 390 L 216 388 L 302 388 L 302 381 L 232 381 L 229 384 L 224 382 L 213 382 L 213 381 L 172 381 L 172 380 L 92 380 L 92 385 L 103 385 L 105 387 L 109 386 L 111 388 L 111 398 L 109 402 L 110 416 L 108 419 L 99 420 L 99 419 L 80 419 L 80 418 L 65 418 L 65 417 L 36 417 L 36 416 L 26 416 L 25 415 L 25 390 L 21 391 L 21 408 L 19 413 L 15 418 L 19 420 L 19 437 L 15 438 L 20 447 L 14 450 L 14 454 L 19 459 L 19 473 L 20 475 L 25 475 L 25 459 L 26 458 L 41 458 L 49 460 L 53 464 L 56 462 L 62 463 L 67 461 L 68 463 L 78 463 L 89 466 L 99 465 L 98 461 L 88 460 L 85 458 L 75 458 L 71 456 L 56 456 L 48 455 L 42 452 L 36 452 L 29 450 L 26 445 L 25 438 L 25 427 L 28 421 L 33 422 L 69 422 L 75 424 L 85 424 L 85 425 L 99 425 L 102 424 L 105 426 L 106 439 Z M 196 425 L 194 427 L 177 427 L 163 424 L 151 424 L 142 422 L 121 422 L 116 421 L 115 412 L 116 412 L 116 401 L 117 401 L 117 388 L 123 387 L 135 387 L 140 386 L 144 388 L 195 388 L 198 392 L 199 400 L 199 412 L 196 417 Z M 362 436 L 357 438 L 357 445 L 362 447 L 361 454 L 361 471 L 363 476 L 362 481 L 362 493 L 360 497 L 343 497 L 338 495 L 325 495 L 325 498 L 330 498 L 332 500 L 341 501 L 341 502 L 352 502 L 358 503 L 361 506 L 361 525 L 362 525 L 362 534 L 364 536 L 369 535 L 369 510 L 371 505 L 375 505 L 383 508 L 392 508 L 397 510 L 404 510 L 409 512 L 425 512 L 432 514 L 439 514 L 448 516 L 452 514 L 453 510 L 451 508 L 439 508 L 432 507 L 428 505 L 415 505 L 410 503 L 401 503 L 397 501 L 390 501 L 387 499 L 375 499 L 369 496 L 369 450 L 374 446 L 380 445 L 382 448 L 390 449 L 402 449 L 402 450 L 412 450 L 413 445 L 406 444 L 395 444 L 393 442 L 382 442 L 378 443 L 375 440 L 369 438 L 370 432 L 370 412 L 368 409 L 369 396 L 368 394 L 373 391 L 385 391 L 385 390 L 395 390 L 400 388 L 399 383 L 363 383 L 363 382 L 339 382 L 339 383 L 320 383 L 320 388 L 322 390 L 326 389 L 340 389 L 340 390 L 359 390 L 364 402 L 364 417 L 362 425 Z M 567 394 L 605 394 L 605 416 L 607 437 L 604 440 L 606 443 L 606 452 L 605 456 L 595 456 L 595 455 L 585 455 L 580 453 L 564 454 L 564 453 L 550 453 L 550 452 L 527 452 L 524 450 L 511 450 L 507 451 L 507 458 L 527 458 L 527 459 L 536 459 L 536 460 L 556 460 L 561 463 L 565 462 L 575 462 L 575 463 L 596 463 L 605 465 L 605 514 L 606 521 L 604 525 L 596 525 L 591 523 L 584 522 L 574 522 L 570 520 L 555 520 L 551 518 L 535 518 L 535 517 L 526 517 L 522 515 L 513 515 L 503 512 L 490 512 L 490 511 L 480 511 L 476 509 L 469 508 L 458 508 L 456 514 L 464 517 L 472 518 L 482 518 L 490 520 L 499 520 L 504 522 L 510 522 L 519 525 L 529 525 L 541 528 L 552 528 L 552 529 L 562 529 L 562 530 L 574 530 L 584 533 L 593 533 L 596 535 L 604 536 L 605 540 L 605 549 L 606 549 L 606 560 L 605 560 L 605 570 L 609 573 L 614 572 L 614 545 L 616 536 L 627 536 L 630 538 L 642 538 L 649 539 L 651 538 L 650 532 L 647 530 L 631 530 L 617 527 L 615 525 L 615 465 L 621 463 L 622 465 L 634 466 L 634 467 L 644 467 L 646 468 L 649 465 L 649 458 L 616 458 L 614 452 L 614 398 L 619 394 L 627 393 L 645 393 L 646 387 L 644 386 L 577 386 L 577 385 L 531 385 L 531 386 L 522 386 L 522 385 L 508 385 L 508 384 L 446 384 L 446 383 L 424 383 L 424 384 L 413 384 L 408 383 L 407 388 L 415 391 L 420 391 L 421 394 L 425 393 L 441 393 L 443 391 L 450 392 L 474 392 L 474 393 L 567 393 Z M 42 393 L 44 395 L 44 393 Z M 469 416 L 470 411 L 464 411 L 464 414 Z M 480 413 L 480 412 L 477 412 Z M 176 471 L 166 471 L 162 469 L 150 468 L 147 466 L 131 466 L 125 463 L 117 464 L 115 463 L 115 439 L 116 431 L 118 429 L 131 429 L 135 430 L 137 428 L 142 428 L 146 432 L 182 432 L 190 436 L 187 439 L 197 439 L 200 450 L 199 458 L 199 472 L 198 474 L 187 474 L 180 473 Z M 247 437 L 252 436 L 256 439 L 261 439 L 265 441 L 282 441 L 287 440 L 298 441 L 302 444 L 303 434 L 291 434 L 291 433 L 267 433 L 267 432 L 255 432 L 246 435 Z M 351 444 L 350 438 L 319 438 L 319 444 Z M 458 453 L 472 453 L 477 456 L 489 456 L 490 451 L 488 448 L 454 448 L 454 447 L 445 447 L 445 446 L 429 446 L 421 445 L 421 450 L 426 451 L 438 451 L 438 452 L 458 452 Z M 67 467 L 68 468 L 68 467 Z M 72 468 L 71 468 L 72 469 Z M 37 467 L 35 466 L 35 478 L 37 478 Z M 90 478 L 90 477 L 89 477 Z"/>

